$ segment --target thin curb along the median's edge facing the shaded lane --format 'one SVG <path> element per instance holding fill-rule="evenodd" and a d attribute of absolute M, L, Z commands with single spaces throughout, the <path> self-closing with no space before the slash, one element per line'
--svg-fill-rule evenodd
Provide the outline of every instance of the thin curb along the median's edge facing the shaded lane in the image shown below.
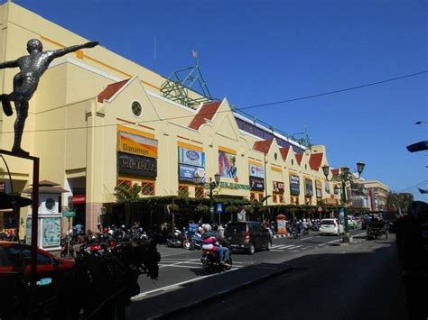
<path fill-rule="evenodd" d="M 252 280 L 252 281 L 247 281 L 247 282 L 243 283 L 242 285 L 238 285 L 235 288 L 231 288 L 231 289 L 228 289 L 228 290 L 219 291 L 218 293 L 216 293 L 216 294 L 214 294 L 214 295 L 212 295 L 210 297 L 206 297 L 206 298 L 202 298 L 202 299 L 197 300 L 197 301 L 193 301 L 193 302 L 191 302 L 191 303 L 189 303 L 187 305 L 183 305 L 181 307 L 178 307 L 176 309 L 173 309 L 173 310 L 168 311 L 168 312 L 163 313 L 163 314 L 153 315 L 153 316 L 151 316 L 151 317 L 149 317 L 147 319 L 148 320 L 168 319 L 168 318 L 170 318 L 170 317 L 172 317 L 174 315 L 179 315 L 183 311 L 189 311 L 192 308 L 195 308 L 195 307 L 200 306 L 202 304 L 218 300 L 220 297 L 226 297 L 226 296 L 228 296 L 230 294 L 234 294 L 234 293 L 236 293 L 236 292 L 238 292 L 240 290 L 243 290 L 245 288 L 249 288 L 251 286 L 255 286 L 256 284 L 259 284 L 259 283 L 261 283 L 261 282 L 263 282 L 265 280 L 273 279 L 275 277 L 279 277 L 279 276 L 283 275 L 284 273 L 286 273 L 286 272 L 288 272 L 290 270 L 293 270 L 293 268 L 290 267 L 289 265 L 286 265 L 285 268 L 280 268 L 280 270 L 274 271 L 273 273 L 268 274 L 265 277 L 258 278 L 258 279 Z"/>

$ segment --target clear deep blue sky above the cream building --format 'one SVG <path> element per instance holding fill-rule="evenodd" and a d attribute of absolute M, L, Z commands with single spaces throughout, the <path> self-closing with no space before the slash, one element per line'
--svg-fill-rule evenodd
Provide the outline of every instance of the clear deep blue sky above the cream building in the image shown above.
<path fill-rule="evenodd" d="M 15 0 L 168 77 L 198 50 L 212 96 L 237 107 L 310 96 L 428 70 L 427 3 L 415 0 Z M 70 43 L 74 44 L 74 43 Z M 395 192 L 428 189 L 428 76 L 247 110 L 285 133 L 306 126 L 330 166 L 367 165 Z"/>

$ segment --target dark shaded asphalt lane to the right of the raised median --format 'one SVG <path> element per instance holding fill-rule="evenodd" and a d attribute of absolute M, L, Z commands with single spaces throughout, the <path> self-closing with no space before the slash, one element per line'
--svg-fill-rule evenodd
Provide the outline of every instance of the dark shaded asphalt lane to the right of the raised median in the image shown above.
<path fill-rule="evenodd" d="M 283 276 L 173 318 L 407 319 L 405 292 L 391 240 L 311 251 L 289 263 L 293 270 Z"/>

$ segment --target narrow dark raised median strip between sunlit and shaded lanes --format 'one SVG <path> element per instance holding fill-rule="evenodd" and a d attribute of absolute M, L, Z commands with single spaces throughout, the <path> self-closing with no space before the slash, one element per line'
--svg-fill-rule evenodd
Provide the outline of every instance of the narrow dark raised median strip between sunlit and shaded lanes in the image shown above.
<path fill-rule="evenodd" d="M 285 263 L 260 263 L 240 270 L 219 273 L 203 281 L 181 285 L 168 293 L 134 300 L 127 307 L 129 319 L 162 319 L 203 303 L 272 279 L 291 270 Z M 221 275 L 221 277 L 219 277 Z M 191 303 L 189 303 L 191 301 Z"/>

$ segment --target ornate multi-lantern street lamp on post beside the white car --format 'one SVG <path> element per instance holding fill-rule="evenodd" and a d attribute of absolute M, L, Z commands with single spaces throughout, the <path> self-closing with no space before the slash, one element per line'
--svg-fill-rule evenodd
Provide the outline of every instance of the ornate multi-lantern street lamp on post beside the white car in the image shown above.
<path fill-rule="evenodd" d="M 366 164 L 362 161 L 357 162 L 357 171 L 358 171 L 358 178 L 361 177 L 361 173 L 364 170 L 364 167 Z M 329 181 L 329 173 L 330 173 L 330 167 L 325 164 L 322 166 L 322 172 L 324 173 L 325 178 L 327 181 Z M 342 195 L 341 195 L 341 202 L 343 205 L 343 218 L 345 220 L 344 226 L 344 235 L 343 235 L 343 242 L 349 243 L 349 230 L 348 230 L 348 213 L 346 210 L 346 186 L 352 182 L 352 180 L 358 179 L 355 178 L 355 176 L 349 172 L 349 167 L 342 166 L 340 167 L 340 173 L 334 174 L 333 177 L 331 177 L 330 181 L 333 183 L 339 185 L 342 188 Z"/>

